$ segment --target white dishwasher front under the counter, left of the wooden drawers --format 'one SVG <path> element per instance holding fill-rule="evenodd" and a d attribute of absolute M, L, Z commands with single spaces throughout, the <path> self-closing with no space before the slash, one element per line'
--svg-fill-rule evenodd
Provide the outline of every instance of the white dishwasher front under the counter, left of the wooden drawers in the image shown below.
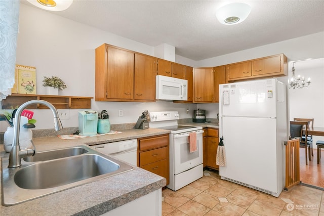
<path fill-rule="evenodd" d="M 95 150 L 137 166 L 137 139 L 95 145 Z"/>

